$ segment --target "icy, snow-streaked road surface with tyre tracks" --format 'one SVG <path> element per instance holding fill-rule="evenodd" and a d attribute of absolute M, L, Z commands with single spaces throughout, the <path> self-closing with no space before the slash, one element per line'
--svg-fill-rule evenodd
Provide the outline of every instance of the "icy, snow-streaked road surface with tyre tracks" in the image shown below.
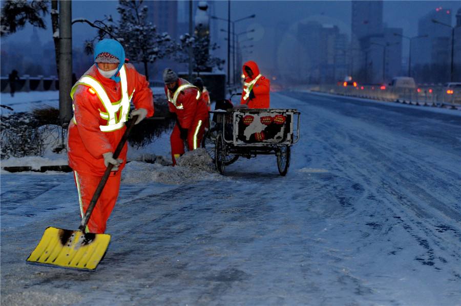
<path fill-rule="evenodd" d="M 2 305 L 461 305 L 461 112 L 271 105 L 302 113 L 286 177 L 275 156 L 225 177 L 130 163 L 95 272 L 25 261 L 47 226 L 78 227 L 71 174 L 2 172 Z"/>

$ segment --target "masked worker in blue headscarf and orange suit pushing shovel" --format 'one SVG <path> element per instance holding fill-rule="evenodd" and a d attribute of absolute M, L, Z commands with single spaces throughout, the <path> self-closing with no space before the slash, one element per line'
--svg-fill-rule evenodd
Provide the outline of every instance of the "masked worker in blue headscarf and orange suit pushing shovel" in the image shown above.
<path fill-rule="evenodd" d="M 71 91 L 74 117 L 68 130 L 68 158 L 74 170 L 82 216 L 107 166 L 114 165 L 86 229 L 104 233 L 117 201 L 121 170 L 127 161 L 127 144 L 117 159 L 113 153 L 125 132 L 130 102 L 135 105 L 131 116 L 138 116 L 135 124 L 154 115 L 154 104 L 149 82 L 132 64 L 125 63 L 125 52 L 118 41 L 99 41 L 94 61 Z"/>

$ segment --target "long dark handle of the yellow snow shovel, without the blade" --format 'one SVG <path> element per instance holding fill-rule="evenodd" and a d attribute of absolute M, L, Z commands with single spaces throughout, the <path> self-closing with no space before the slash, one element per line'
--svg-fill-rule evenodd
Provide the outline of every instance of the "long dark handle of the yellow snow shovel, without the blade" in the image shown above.
<path fill-rule="evenodd" d="M 127 123 L 127 129 L 125 129 L 125 133 L 123 133 L 123 136 L 120 139 L 117 148 L 114 151 L 114 159 L 117 159 L 117 157 L 120 155 L 120 152 L 123 149 L 125 142 L 127 142 L 128 136 L 131 133 L 131 129 L 133 128 L 133 125 L 137 119 L 138 116 L 133 116 L 133 118 L 131 118 L 131 120 Z M 109 163 L 109 165 L 106 168 L 106 172 L 104 172 L 101 181 L 99 181 L 98 187 L 96 187 L 96 190 L 94 191 L 93 198 L 91 198 L 90 201 L 90 205 L 88 205 L 88 209 L 83 218 L 81 219 L 81 224 L 78 229 L 81 230 L 83 233 L 85 233 L 85 228 L 87 227 L 88 221 L 90 221 L 91 213 L 93 212 L 93 209 L 96 206 L 96 202 L 98 202 L 102 189 L 104 189 L 104 186 L 106 185 L 107 180 L 109 179 L 113 167 L 114 165 Z"/>

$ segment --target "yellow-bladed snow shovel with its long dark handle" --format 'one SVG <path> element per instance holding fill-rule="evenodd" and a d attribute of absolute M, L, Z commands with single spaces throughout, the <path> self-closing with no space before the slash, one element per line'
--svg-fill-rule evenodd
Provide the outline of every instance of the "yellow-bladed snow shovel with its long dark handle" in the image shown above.
<path fill-rule="evenodd" d="M 116 159 L 128 139 L 128 135 L 136 122 L 134 116 L 123 134 L 115 149 L 113 158 Z M 37 247 L 26 259 L 29 263 L 40 265 L 52 265 L 62 268 L 73 268 L 78 270 L 95 270 L 99 261 L 106 254 L 111 235 L 95 234 L 86 232 L 88 221 L 93 212 L 99 195 L 109 178 L 114 165 L 109 164 L 104 172 L 96 191 L 93 194 L 90 205 L 81 220 L 78 230 L 66 230 L 55 227 L 48 227 L 40 239 Z"/>

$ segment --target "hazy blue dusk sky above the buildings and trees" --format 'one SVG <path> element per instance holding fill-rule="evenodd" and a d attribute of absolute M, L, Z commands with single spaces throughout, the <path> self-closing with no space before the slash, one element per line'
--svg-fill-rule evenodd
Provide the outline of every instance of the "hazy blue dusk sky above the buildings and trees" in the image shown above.
<path fill-rule="evenodd" d="M 197 6 L 194 1 L 194 7 Z M 3 4 L 3 1 L 2 1 Z M 85 17 L 89 20 L 101 19 L 104 14 L 118 16 L 116 11 L 117 1 L 73 1 L 73 18 Z M 453 15 L 461 8 L 461 1 L 384 1 L 384 22 L 388 27 L 403 28 L 404 35 L 414 36 L 417 33 L 418 18 L 427 14 L 430 10 L 442 6 L 444 9 L 451 9 Z M 215 2 L 215 14 L 227 18 L 227 1 Z M 254 41 L 254 53 L 247 57 L 266 60 L 268 54 L 274 52 L 277 46 L 275 32 L 280 25 L 295 26 L 304 19 L 317 20 L 324 24 L 338 25 L 342 33 L 350 34 L 351 28 L 351 2 L 350 1 L 232 1 L 231 19 L 236 20 L 251 14 L 256 18 L 243 20 L 236 23 L 236 33 L 248 29 L 256 29 Z M 50 16 L 46 17 L 49 21 Z M 453 17 L 453 23 L 454 23 Z M 48 22 L 49 23 L 49 22 Z M 226 29 L 227 24 L 219 21 L 218 28 Z M 39 30 L 42 42 L 51 40 L 51 27 L 47 30 Z M 213 30 L 212 30 L 213 32 Z M 219 32 L 218 42 L 222 45 L 222 56 L 226 55 L 226 43 L 222 40 L 225 33 Z M 7 38 L 2 38 L 2 45 L 14 40 L 29 39 L 32 34 L 32 27 L 27 26 L 24 30 L 17 32 Z M 76 24 L 73 26 L 74 46 L 82 45 L 85 38 L 93 37 L 95 31 L 88 25 Z M 242 38 L 243 39 L 243 38 Z M 408 42 L 404 40 L 403 56 L 408 54 Z M 245 58 L 244 58 L 245 60 Z"/>

